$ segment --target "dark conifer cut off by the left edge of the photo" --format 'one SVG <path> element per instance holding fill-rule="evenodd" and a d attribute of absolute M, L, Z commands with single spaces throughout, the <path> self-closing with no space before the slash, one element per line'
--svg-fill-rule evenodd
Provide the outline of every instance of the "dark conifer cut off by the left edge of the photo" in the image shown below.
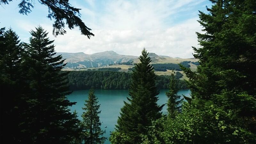
<path fill-rule="evenodd" d="M 23 48 L 19 37 L 10 28 L 0 30 L 0 106 L 1 143 L 8 140 L 17 143 L 20 136 L 19 124 L 22 108 L 21 61 Z"/>

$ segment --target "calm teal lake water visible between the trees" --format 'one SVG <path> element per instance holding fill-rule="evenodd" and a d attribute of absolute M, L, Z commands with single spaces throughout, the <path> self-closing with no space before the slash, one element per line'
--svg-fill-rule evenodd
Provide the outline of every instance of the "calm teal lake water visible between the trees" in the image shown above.
<path fill-rule="evenodd" d="M 165 92 L 168 90 L 160 90 L 158 95 L 158 105 L 165 104 L 167 102 L 167 97 Z M 88 100 L 89 90 L 74 91 L 71 95 L 68 95 L 67 98 L 71 102 L 77 102 L 76 105 L 73 105 L 70 110 L 78 113 L 79 119 L 83 113 L 82 107 L 84 107 L 84 100 Z M 190 96 L 190 90 L 180 90 L 178 95 Z M 129 97 L 128 90 L 95 90 L 95 95 L 98 98 L 100 104 L 100 122 L 101 129 L 106 130 L 104 137 L 109 138 L 110 132 L 115 130 L 115 124 L 117 124 L 117 118 L 120 115 L 120 109 L 124 105 L 124 101 L 128 101 L 126 97 Z M 164 106 L 162 112 L 166 113 L 166 106 Z M 107 128 L 105 128 L 107 126 Z M 105 144 L 110 144 L 109 140 L 105 141 Z"/>

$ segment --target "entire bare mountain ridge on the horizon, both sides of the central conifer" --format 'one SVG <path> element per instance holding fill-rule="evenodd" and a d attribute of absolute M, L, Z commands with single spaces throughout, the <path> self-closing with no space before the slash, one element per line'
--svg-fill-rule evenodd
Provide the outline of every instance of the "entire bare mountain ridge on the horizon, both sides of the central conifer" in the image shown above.
<path fill-rule="evenodd" d="M 114 51 L 97 52 L 93 54 L 86 54 L 84 52 L 56 52 L 55 54 L 62 55 L 62 59 L 65 59 L 67 65 L 65 68 L 94 68 L 105 67 L 114 64 L 122 63 L 138 63 L 140 62 L 138 56 L 122 55 Z M 156 53 L 149 52 L 148 56 L 151 58 L 151 63 L 179 63 L 180 61 L 197 61 L 197 59 L 188 58 L 172 58 L 170 56 L 157 55 Z"/>

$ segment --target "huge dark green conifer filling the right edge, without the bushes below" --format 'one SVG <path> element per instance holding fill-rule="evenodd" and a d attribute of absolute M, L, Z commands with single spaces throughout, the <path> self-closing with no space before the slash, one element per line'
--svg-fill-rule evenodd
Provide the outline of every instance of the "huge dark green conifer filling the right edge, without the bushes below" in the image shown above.
<path fill-rule="evenodd" d="M 182 69 L 189 78 L 192 98 L 210 101 L 226 113 L 227 117 L 218 120 L 231 130 L 222 137 L 237 131 L 230 143 L 252 143 L 256 136 L 256 3 L 211 2 L 209 13 L 199 12 L 204 33 L 196 33 L 201 47 L 193 47 L 200 62 L 197 72 Z"/>

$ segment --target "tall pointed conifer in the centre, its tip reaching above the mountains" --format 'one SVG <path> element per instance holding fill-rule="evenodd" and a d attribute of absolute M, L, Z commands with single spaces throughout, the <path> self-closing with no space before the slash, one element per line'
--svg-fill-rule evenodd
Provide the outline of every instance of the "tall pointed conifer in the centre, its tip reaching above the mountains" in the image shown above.
<path fill-rule="evenodd" d="M 129 103 L 124 102 L 118 117 L 116 132 L 112 132 L 111 143 L 140 143 L 140 134 L 147 133 L 146 127 L 152 120 L 161 117 L 163 106 L 157 105 L 159 91 L 156 88 L 156 75 L 145 48 L 140 56 L 140 63 L 136 64 L 132 73 L 132 82 L 129 89 L 131 98 Z M 124 139 L 125 140 L 122 140 Z M 121 140 L 121 141 L 120 141 Z M 125 141 L 125 142 L 124 142 Z"/>

